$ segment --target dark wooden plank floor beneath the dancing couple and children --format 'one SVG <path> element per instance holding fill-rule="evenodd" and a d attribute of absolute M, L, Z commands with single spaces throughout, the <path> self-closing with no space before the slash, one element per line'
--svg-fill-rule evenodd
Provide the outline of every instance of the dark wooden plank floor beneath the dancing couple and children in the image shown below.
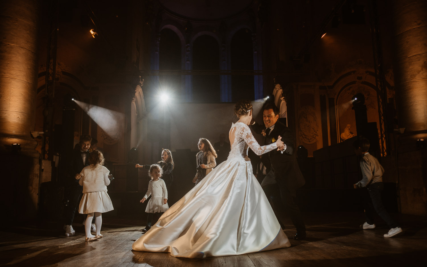
<path fill-rule="evenodd" d="M 104 218 L 104 238 L 85 242 L 84 229 L 75 226 L 76 236 L 64 237 L 58 229 L 32 226 L 3 227 L 0 232 L 2 266 L 427 266 L 427 218 L 400 215 L 404 233 L 384 238 L 384 224 L 361 230 L 360 213 L 304 213 L 307 240 L 291 240 L 292 246 L 267 252 L 192 260 L 168 253 L 132 251 L 145 222 Z M 378 219 L 379 220 L 379 219 Z M 295 235 L 288 222 L 285 232 Z"/>

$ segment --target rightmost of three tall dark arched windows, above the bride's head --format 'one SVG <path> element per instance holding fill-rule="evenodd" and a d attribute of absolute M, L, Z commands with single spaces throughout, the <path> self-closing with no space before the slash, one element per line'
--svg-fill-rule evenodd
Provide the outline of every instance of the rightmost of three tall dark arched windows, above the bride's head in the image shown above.
<path fill-rule="evenodd" d="M 231 39 L 231 69 L 253 70 L 254 53 L 252 47 L 252 32 L 249 29 L 240 29 Z M 232 100 L 241 98 L 254 100 L 254 76 L 231 76 Z"/>

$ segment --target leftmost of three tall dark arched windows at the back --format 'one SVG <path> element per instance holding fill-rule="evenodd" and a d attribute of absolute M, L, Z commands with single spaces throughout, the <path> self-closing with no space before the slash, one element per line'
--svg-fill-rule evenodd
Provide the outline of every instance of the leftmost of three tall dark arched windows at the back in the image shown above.
<path fill-rule="evenodd" d="M 181 42 L 171 29 L 162 29 L 159 43 L 159 70 L 181 70 Z M 181 92 L 181 75 L 159 76 L 164 91 Z"/>

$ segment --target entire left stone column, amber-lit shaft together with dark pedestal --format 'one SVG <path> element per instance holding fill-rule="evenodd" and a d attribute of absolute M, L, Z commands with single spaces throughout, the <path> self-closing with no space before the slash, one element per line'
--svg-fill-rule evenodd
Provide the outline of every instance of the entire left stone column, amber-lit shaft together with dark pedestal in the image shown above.
<path fill-rule="evenodd" d="M 0 5 L 0 169 L 4 177 L 0 202 L 8 214 L 6 221 L 29 220 L 38 208 L 39 154 L 30 137 L 37 90 L 38 8 L 37 0 Z M 12 153 L 14 143 L 20 144 L 20 154 Z"/>

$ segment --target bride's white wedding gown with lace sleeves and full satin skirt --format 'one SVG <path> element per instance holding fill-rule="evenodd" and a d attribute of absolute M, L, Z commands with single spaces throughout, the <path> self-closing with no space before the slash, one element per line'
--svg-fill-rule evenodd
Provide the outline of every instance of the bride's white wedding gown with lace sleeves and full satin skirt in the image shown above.
<path fill-rule="evenodd" d="M 205 258 L 290 246 L 246 156 L 248 145 L 261 155 L 276 144 L 260 147 L 244 123 L 234 123 L 230 132 L 227 161 L 171 206 L 132 249 Z"/>

